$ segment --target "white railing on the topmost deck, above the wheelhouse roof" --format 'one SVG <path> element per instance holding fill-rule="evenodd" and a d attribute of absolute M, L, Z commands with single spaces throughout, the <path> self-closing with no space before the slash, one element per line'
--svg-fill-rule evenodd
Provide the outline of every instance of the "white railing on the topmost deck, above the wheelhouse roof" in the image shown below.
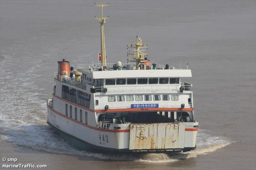
<path fill-rule="evenodd" d="M 114 70 L 113 69 L 113 65 L 116 63 L 107 63 L 107 69 L 105 71 L 109 71 L 109 70 Z M 128 68 L 128 65 L 130 66 Z M 142 70 L 146 70 L 147 69 L 165 69 L 165 65 L 164 64 L 159 64 L 159 63 L 151 63 L 151 65 L 149 67 L 146 67 L 146 64 L 141 64 L 143 69 Z M 102 71 L 103 65 L 102 64 L 79 64 L 77 65 L 77 70 L 80 71 L 84 71 L 84 72 L 88 72 L 91 73 L 93 71 Z M 134 70 L 135 66 L 133 66 L 133 63 L 123 63 L 123 66 L 118 68 L 118 70 Z M 175 68 L 175 67 L 170 67 L 169 69 L 188 69 L 187 68 Z"/>

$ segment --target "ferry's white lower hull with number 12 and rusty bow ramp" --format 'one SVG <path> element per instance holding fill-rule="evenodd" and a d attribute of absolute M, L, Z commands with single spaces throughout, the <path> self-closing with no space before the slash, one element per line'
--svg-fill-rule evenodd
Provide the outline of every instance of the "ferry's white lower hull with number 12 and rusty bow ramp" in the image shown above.
<path fill-rule="evenodd" d="M 180 152 L 196 148 L 198 122 L 121 124 L 122 130 L 102 129 L 96 126 L 95 112 L 56 95 L 53 95 L 53 101 L 54 109 L 49 105 L 47 107 L 47 123 L 78 149 L 96 152 Z M 79 114 L 77 120 L 66 116 L 63 112 L 65 104 L 86 111 L 93 123 L 80 122 Z"/>

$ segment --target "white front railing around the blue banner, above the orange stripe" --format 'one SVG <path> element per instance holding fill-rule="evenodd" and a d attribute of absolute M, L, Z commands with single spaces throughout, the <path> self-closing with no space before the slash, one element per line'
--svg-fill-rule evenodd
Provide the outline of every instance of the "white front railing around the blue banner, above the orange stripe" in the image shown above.
<path fill-rule="evenodd" d="M 131 102 L 108 102 L 100 103 L 95 106 L 95 110 L 104 110 L 105 106 L 108 105 L 109 109 L 127 109 L 131 108 L 131 104 L 144 105 L 144 109 L 147 109 L 145 104 L 158 104 L 158 108 L 181 108 L 181 104 L 184 103 L 184 108 L 192 108 L 192 103 L 188 102 L 158 102 L 158 101 L 131 101 Z M 138 107 L 139 108 L 139 107 Z M 148 107 L 152 108 L 152 107 Z"/>

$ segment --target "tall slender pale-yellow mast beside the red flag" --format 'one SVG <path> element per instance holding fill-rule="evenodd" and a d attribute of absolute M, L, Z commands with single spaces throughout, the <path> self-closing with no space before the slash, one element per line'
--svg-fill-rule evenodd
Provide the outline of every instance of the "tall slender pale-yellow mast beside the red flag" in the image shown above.
<path fill-rule="evenodd" d="M 107 64 L 107 60 L 106 60 L 106 48 L 105 48 L 105 36 L 104 36 L 104 26 L 103 23 L 106 23 L 106 19 L 108 19 L 108 17 L 103 17 L 103 12 L 102 12 L 102 8 L 103 6 L 108 6 L 108 4 L 96 4 L 95 6 L 99 6 L 101 8 L 101 16 L 100 17 L 96 17 L 95 19 L 99 19 L 100 22 L 100 53 L 101 53 L 101 64 L 103 66 L 103 69 L 106 68 L 106 64 Z"/>

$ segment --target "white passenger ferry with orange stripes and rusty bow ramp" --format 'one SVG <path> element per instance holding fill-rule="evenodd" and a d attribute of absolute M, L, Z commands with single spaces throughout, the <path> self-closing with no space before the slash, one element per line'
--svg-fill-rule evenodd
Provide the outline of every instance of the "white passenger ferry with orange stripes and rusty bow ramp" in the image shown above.
<path fill-rule="evenodd" d="M 58 61 L 47 123 L 74 147 L 93 152 L 186 152 L 196 149 L 198 121 L 191 70 L 151 63 L 137 36 L 133 59 L 107 63 L 101 8 L 99 64 Z"/>

